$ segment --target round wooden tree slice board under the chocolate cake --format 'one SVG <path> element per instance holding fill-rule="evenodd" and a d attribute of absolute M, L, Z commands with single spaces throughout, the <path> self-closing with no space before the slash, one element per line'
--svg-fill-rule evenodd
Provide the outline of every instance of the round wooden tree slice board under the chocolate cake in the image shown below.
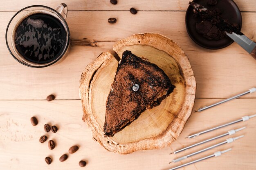
<path fill-rule="evenodd" d="M 83 120 L 88 123 L 93 139 L 107 150 L 121 154 L 171 144 L 179 137 L 195 100 L 195 77 L 186 54 L 171 39 L 156 33 L 132 35 L 118 41 L 113 49 L 119 57 L 125 50 L 130 50 L 155 63 L 176 87 L 159 106 L 146 109 L 137 120 L 113 137 L 104 137 L 106 100 L 118 61 L 111 52 L 103 52 L 85 68 L 79 87 Z"/>

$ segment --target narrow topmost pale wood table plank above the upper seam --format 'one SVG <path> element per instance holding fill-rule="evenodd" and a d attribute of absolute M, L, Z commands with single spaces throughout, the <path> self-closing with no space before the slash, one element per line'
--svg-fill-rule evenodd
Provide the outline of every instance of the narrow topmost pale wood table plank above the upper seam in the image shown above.
<path fill-rule="evenodd" d="M 69 10 L 121 10 L 129 11 L 134 7 L 140 11 L 186 11 L 191 0 L 117 0 L 113 5 L 110 0 L 25 0 L 25 1 L 1 1 L 0 11 L 18 11 L 24 7 L 41 4 L 56 8 L 58 4 L 66 3 Z M 240 11 L 256 11 L 254 0 L 234 0 Z M 130 12 L 127 12 L 130 13 Z"/>

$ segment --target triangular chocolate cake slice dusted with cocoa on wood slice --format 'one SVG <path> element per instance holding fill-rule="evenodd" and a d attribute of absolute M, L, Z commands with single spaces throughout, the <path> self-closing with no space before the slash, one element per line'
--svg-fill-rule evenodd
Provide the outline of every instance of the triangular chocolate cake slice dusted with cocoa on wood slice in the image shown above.
<path fill-rule="evenodd" d="M 175 88 L 157 65 L 123 52 L 106 102 L 105 136 L 113 136 L 147 108 L 160 105 Z"/>

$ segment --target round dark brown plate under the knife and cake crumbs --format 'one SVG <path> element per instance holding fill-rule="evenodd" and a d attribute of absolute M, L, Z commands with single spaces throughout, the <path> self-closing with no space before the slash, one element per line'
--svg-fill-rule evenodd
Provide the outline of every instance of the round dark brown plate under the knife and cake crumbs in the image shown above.
<path fill-rule="evenodd" d="M 210 8 L 218 8 L 222 12 L 221 16 L 228 20 L 230 23 L 236 23 L 242 28 L 242 16 L 240 10 L 236 3 L 233 0 L 218 0 L 218 4 L 214 7 L 211 7 L 207 4 L 208 0 L 194 0 L 198 4 L 210 9 Z M 189 36 L 193 41 L 208 49 L 220 49 L 225 48 L 232 44 L 234 41 L 230 39 L 227 35 L 218 41 L 216 40 L 209 40 L 203 37 L 202 34 L 199 34 L 195 29 L 195 23 L 200 21 L 199 17 L 193 16 L 193 7 L 189 6 L 186 10 L 186 31 L 188 32 Z"/>

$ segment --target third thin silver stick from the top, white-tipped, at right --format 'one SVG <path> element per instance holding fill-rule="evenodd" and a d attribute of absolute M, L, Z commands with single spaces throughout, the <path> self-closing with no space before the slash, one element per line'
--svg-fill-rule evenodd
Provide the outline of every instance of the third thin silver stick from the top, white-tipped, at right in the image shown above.
<path fill-rule="evenodd" d="M 182 152 L 182 151 L 184 151 L 184 150 L 187 150 L 187 149 L 193 148 L 193 147 L 195 147 L 195 146 L 198 146 L 198 145 L 201 145 L 201 144 L 210 142 L 210 141 L 215 140 L 215 139 L 219 139 L 219 138 L 224 137 L 224 136 L 227 136 L 227 135 L 233 135 L 233 134 L 235 134 L 236 132 L 241 131 L 241 130 L 243 130 L 243 129 L 245 129 L 245 128 L 246 128 L 246 127 L 242 127 L 242 128 L 239 128 L 239 129 L 232 129 L 232 130 L 227 131 L 227 133 L 224 133 L 224 134 L 222 134 L 222 135 L 218 135 L 218 136 L 212 137 L 212 138 L 210 138 L 210 139 L 206 139 L 206 140 L 204 140 L 204 141 L 202 141 L 202 142 L 198 142 L 198 143 L 196 143 L 196 144 L 187 146 L 187 147 L 185 147 L 185 148 L 182 148 L 182 149 L 179 149 L 179 150 L 175 150 L 175 151 L 173 152 L 173 154 L 180 153 L 180 152 Z M 170 154 L 172 154 L 172 153 L 170 153 Z"/>

